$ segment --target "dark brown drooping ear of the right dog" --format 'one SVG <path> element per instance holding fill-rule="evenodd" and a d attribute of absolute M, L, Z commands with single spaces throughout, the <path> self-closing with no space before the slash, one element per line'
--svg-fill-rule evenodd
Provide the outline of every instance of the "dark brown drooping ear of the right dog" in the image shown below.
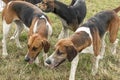
<path fill-rule="evenodd" d="M 77 55 L 77 50 L 72 45 L 65 46 L 65 48 L 66 48 L 66 52 L 67 52 L 68 61 L 71 62 L 75 58 L 75 56 Z"/>

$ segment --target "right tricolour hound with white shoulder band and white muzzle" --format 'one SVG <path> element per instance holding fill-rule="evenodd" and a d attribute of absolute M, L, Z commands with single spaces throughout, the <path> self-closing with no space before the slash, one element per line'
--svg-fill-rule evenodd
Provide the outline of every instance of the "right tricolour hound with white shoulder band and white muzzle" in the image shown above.
<path fill-rule="evenodd" d="M 55 45 L 55 51 L 46 59 L 46 64 L 54 68 L 66 59 L 71 62 L 69 80 L 75 80 L 75 72 L 80 53 L 94 54 L 92 74 L 98 70 L 99 59 L 103 58 L 105 52 L 105 34 L 109 32 L 109 40 L 112 43 L 111 52 L 116 53 L 118 43 L 117 33 L 120 27 L 120 19 L 117 12 L 120 7 L 113 10 L 105 10 L 91 17 L 81 25 L 75 33 L 65 39 L 60 39 Z"/>

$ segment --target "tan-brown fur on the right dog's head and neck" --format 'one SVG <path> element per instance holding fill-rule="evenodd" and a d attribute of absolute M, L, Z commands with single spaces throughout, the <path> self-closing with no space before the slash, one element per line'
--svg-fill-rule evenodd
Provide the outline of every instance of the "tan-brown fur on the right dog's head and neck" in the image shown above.
<path fill-rule="evenodd" d="M 64 59 L 71 62 L 78 52 L 90 46 L 91 43 L 92 41 L 87 33 L 84 31 L 77 32 L 70 38 L 60 39 L 56 43 L 53 58 L 55 62 L 61 62 Z"/>

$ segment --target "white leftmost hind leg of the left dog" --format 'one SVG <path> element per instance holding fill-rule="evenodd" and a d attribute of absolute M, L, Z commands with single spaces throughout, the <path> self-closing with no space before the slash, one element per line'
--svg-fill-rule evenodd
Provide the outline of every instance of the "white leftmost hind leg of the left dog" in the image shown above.
<path fill-rule="evenodd" d="M 8 37 L 10 27 L 11 24 L 7 24 L 6 21 L 3 20 L 3 39 L 2 39 L 3 57 L 6 57 L 8 55 L 7 47 L 6 47 L 6 38 Z"/>

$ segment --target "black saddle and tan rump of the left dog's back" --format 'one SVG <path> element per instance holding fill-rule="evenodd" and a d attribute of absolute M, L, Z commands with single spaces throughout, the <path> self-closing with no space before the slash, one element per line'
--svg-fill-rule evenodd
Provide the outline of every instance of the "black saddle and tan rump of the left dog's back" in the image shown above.
<path fill-rule="evenodd" d="M 9 12 L 9 14 L 7 12 Z M 14 16 L 17 16 L 27 27 L 30 27 L 30 23 L 34 16 L 41 16 L 43 14 L 38 7 L 23 1 L 11 1 L 6 5 L 3 10 L 3 16 L 13 16 L 12 13 L 14 13 Z"/>

